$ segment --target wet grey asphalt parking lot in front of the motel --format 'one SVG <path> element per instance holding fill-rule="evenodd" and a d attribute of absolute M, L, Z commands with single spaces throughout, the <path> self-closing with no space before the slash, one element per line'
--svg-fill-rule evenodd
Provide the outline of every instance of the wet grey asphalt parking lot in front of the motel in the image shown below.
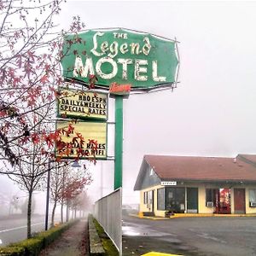
<path fill-rule="evenodd" d="M 124 216 L 123 255 L 256 255 L 255 217 L 151 220 Z"/>

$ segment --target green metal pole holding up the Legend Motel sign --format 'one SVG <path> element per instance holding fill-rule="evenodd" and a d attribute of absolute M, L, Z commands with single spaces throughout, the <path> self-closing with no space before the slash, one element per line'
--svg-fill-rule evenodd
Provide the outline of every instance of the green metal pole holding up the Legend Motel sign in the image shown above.
<path fill-rule="evenodd" d="M 123 178 L 123 96 L 115 97 L 114 189 L 122 187 Z"/>

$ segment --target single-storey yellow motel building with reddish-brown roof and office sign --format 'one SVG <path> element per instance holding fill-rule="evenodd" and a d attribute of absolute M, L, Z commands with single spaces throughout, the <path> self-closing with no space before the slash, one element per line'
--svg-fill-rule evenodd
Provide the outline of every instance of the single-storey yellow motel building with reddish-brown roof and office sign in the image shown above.
<path fill-rule="evenodd" d="M 134 190 L 144 216 L 256 213 L 256 155 L 145 155 Z"/>

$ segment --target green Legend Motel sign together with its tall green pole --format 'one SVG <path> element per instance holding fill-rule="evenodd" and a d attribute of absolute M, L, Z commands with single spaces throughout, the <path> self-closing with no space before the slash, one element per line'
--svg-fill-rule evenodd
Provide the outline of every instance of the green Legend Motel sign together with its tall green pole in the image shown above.
<path fill-rule="evenodd" d="M 118 189 L 123 169 L 123 99 L 132 91 L 176 87 L 177 41 L 124 28 L 69 34 L 63 38 L 61 66 L 64 79 L 71 84 L 107 90 L 115 98 L 114 189 Z M 63 102 L 64 113 L 64 108 L 76 109 L 70 103 L 64 107 Z"/>

